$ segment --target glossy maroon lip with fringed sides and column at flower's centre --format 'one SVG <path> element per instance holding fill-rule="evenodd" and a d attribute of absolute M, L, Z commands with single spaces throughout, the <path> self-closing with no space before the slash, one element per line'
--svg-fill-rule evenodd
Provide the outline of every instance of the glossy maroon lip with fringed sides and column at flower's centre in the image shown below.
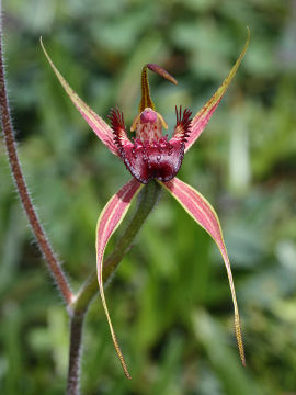
<path fill-rule="evenodd" d="M 114 143 L 126 168 L 141 183 L 151 179 L 167 182 L 175 177 L 184 157 L 186 137 L 190 135 L 191 111 L 177 112 L 173 136 L 162 136 L 166 122 L 150 108 L 146 108 L 135 119 L 132 131 L 136 129 L 134 143 L 127 137 L 123 113 L 111 110 L 110 120 L 114 132 Z"/>

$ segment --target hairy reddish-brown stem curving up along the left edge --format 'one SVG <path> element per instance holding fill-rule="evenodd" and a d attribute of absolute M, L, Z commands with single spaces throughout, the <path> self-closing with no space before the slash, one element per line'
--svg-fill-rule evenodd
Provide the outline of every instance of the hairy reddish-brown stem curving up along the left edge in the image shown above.
<path fill-rule="evenodd" d="M 0 2 L 1 5 L 1 2 Z M 1 10 L 0 10 L 1 11 Z M 1 24 L 1 21 L 0 21 Z M 37 240 L 37 245 L 47 262 L 48 270 L 52 273 L 57 287 L 59 289 L 67 305 L 70 305 L 72 301 L 72 292 L 66 279 L 66 275 L 55 256 L 53 248 L 48 241 L 48 238 L 43 229 L 36 210 L 32 203 L 29 194 L 29 190 L 24 180 L 24 176 L 21 169 L 19 160 L 16 144 L 14 139 L 14 132 L 12 121 L 10 116 L 10 109 L 8 102 L 5 76 L 3 66 L 3 53 L 2 53 L 2 24 L 0 25 L 0 111 L 1 111 L 1 125 L 4 134 L 4 144 L 8 153 L 9 163 L 11 167 L 12 177 L 14 179 L 16 190 L 19 192 L 22 205 L 24 207 L 27 219 L 32 226 L 33 233 Z"/>

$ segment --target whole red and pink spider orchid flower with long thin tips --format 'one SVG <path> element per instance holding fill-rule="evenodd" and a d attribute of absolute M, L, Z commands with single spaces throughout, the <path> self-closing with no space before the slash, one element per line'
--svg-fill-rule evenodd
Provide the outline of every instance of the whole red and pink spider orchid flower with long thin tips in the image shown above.
<path fill-rule="evenodd" d="M 119 112 L 118 109 L 112 109 L 109 116 L 111 126 L 109 126 L 109 124 L 105 123 L 92 109 L 90 109 L 70 88 L 68 82 L 53 64 L 41 41 L 42 48 L 54 72 L 80 114 L 98 135 L 101 142 L 110 149 L 110 151 L 123 160 L 126 168 L 133 176 L 133 178 L 107 202 L 98 219 L 96 226 L 96 267 L 100 294 L 114 347 L 128 379 L 130 379 L 130 375 L 117 342 L 105 302 L 102 274 L 103 258 L 106 244 L 125 217 L 132 201 L 150 180 L 156 180 L 160 185 L 169 191 L 189 213 L 189 215 L 198 225 L 201 225 L 217 244 L 225 262 L 230 285 L 235 309 L 235 332 L 240 359 L 243 365 L 246 363 L 232 273 L 218 216 L 212 205 L 200 192 L 185 182 L 179 180 L 175 176 L 180 170 L 184 154 L 187 153 L 191 146 L 200 137 L 201 133 L 204 131 L 220 103 L 223 95 L 235 77 L 235 74 L 246 54 L 249 41 L 250 32 L 248 30 L 247 42 L 235 66 L 215 94 L 205 103 L 205 105 L 193 119 L 191 117 L 192 112 L 189 109 L 182 111 L 181 106 L 180 109 L 175 108 L 177 124 L 170 139 L 168 138 L 168 135 L 162 134 L 162 129 L 167 129 L 168 125 L 161 114 L 156 111 L 156 106 L 150 98 L 147 78 L 147 69 L 149 69 L 177 84 L 177 80 L 168 71 L 155 64 L 147 64 L 144 66 L 141 71 L 141 100 L 139 104 L 139 112 L 130 127 L 130 132 L 135 132 L 136 136 L 129 139 L 125 128 L 123 113 Z"/>

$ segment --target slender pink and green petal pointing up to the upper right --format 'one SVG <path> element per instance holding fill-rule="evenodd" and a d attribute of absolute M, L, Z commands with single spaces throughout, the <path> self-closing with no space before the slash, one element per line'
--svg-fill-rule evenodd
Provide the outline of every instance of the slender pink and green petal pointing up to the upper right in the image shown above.
<path fill-rule="evenodd" d="M 223 81 L 223 84 L 218 88 L 215 94 L 208 100 L 208 102 L 197 112 L 197 114 L 194 116 L 191 123 L 191 133 L 187 138 L 187 143 L 185 145 L 185 153 L 191 148 L 191 146 L 196 142 L 196 139 L 200 137 L 201 133 L 206 127 L 206 124 L 210 120 L 212 115 L 216 111 L 217 106 L 219 105 L 221 98 L 224 97 L 225 92 L 227 91 L 227 88 L 229 87 L 232 78 L 235 77 L 237 69 L 239 68 L 239 65 L 247 52 L 249 42 L 250 42 L 250 30 L 248 30 L 248 37 L 247 42 L 243 46 L 243 49 L 241 54 L 239 55 L 239 58 L 237 59 L 235 66 L 231 68 L 229 75 L 226 77 L 226 79 Z"/>

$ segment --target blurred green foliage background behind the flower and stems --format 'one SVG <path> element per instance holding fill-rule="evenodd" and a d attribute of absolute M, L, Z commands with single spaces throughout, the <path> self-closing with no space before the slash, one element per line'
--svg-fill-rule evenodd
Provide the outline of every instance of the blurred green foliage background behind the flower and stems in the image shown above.
<path fill-rule="evenodd" d="M 242 66 L 179 173 L 219 214 L 247 368 L 219 251 L 163 192 L 106 290 L 133 381 L 123 375 L 95 297 L 84 328 L 82 393 L 296 394 L 296 1 L 7 0 L 3 8 L 22 163 L 76 290 L 95 266 L 98 215 L 129 173 L 59 87 L 39 36 L 81 98 L 104 117 L 119 106 L 128 125 L 143 65 L 163 66 L 179 84 L 150 75 L 151 90 L 172 128 L 174 105 L 193 112 L 203 105 L 250 27 Z M 20 207 L 2 142 L 0 168 L 0 392 L 62 394 L 68 318 Z"/>

